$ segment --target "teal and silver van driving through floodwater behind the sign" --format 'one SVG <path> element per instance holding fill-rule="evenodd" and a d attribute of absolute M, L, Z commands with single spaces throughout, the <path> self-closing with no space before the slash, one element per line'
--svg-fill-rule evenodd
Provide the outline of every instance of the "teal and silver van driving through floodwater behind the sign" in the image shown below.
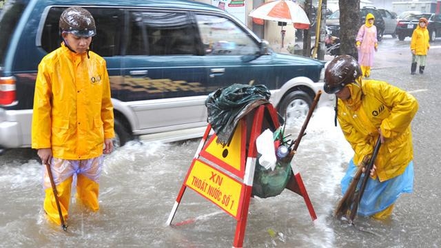
<path fill-rule="evenodd" d="M 306 116 L 323 87 L 323 61 L 278 54 L 208 4 L 6 0 L 0 10 L 0 150 L 30 146 L 37 67 L 60 46 L 59 18 L 67 6 L 83 6 L 95 19 L 91 50 L 107 63 L 116 145 L 145 134 L 171 133 L 174 141 L 202 136 L 207 95 L 234 83 L 266 85 L 271 103 L 289 119 Z"/>

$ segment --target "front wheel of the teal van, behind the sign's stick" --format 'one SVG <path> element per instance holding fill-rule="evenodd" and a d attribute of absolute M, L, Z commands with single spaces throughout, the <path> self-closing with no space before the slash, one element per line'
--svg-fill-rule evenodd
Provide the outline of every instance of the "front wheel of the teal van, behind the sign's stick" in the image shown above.
<path fill-rule="evenodd" d="M 309 107 L 311 107 L 311 97 L 302 91 L 290 92 L 283 97 L 278 105 L 278 113 L 285 118 L 287 123 L 294 123 L 296 120 L 306 118 Z"/>

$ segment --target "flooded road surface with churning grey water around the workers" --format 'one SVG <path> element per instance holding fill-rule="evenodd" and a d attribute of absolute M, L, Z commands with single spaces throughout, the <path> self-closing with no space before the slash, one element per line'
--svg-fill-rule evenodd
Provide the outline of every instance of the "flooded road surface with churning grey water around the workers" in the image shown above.
<path fill-rule="evenodd" d="M 409 38 L 398 41 L 390 36 L 380 43 L 371 71 L 372 79 L 411 92 L 420 105 L 412 122 L 414 192 L 398 200 L 393 218 L 386 223 L 360 219 L 360 227 L 368 233 L 331 217 L 340 198 L 338 182 L 348 154 L 341 152 L 343 143 L 336 129 L 324 127 L 320 119 L 311 120 L 309 136 L 302 140 L 296 159 L 318 221 L 311 223 L 298 196 L 284 192 L 255 199 L 246 247 L 441 247 L 438 39 L 431 43 L 424 75 L 410 75 Z M 318 117 L 332 118 L 331 107 L 313 118 Z M 0 156 L 0 247 L 231 247 L 234 220 L 192 192 L 186 193 L 176 221 L 203 217 L 192 225 L 164 226 L 197 145 L 197 140 L 131 144 L 108 156 L 101 176 L 102 209 L 98 215 L 83 214 L 83 209 L 72 204 L 70 234 L 41 217 L 43 192 L 36 152 L 7 151 Z M 337 165 L 335 172 L 329 171 L 331 165 Z"/>

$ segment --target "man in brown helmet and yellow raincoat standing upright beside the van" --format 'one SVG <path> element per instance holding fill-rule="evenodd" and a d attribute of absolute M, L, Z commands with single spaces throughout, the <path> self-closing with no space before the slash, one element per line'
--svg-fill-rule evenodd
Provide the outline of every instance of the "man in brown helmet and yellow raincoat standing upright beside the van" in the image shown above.
<path fill-rule="evenodd" d="M 96 27 L 83 8 L 66 9 L 59 28 L 63 43 L 39 64 L 32 115 L 32 148 L 50 164 L 63 218 L 68 218 L 71 184 L 76 197 L 99 209 L 99 176 L 103 154 L 112 152 L 113 105 L 105 60 L 89 50 Z M 43 208 L 61 224 L 50 178 L 44 168 Z"/>

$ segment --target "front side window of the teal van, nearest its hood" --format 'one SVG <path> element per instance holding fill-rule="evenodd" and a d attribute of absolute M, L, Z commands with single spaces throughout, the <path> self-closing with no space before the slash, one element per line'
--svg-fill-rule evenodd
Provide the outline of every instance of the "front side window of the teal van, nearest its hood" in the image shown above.
<path fill-rule="evenodd" d="M 256 41 L 236 23 L 224 17 L 197 14 L 199 32 L 207 55 L 253 55 Z"/>

